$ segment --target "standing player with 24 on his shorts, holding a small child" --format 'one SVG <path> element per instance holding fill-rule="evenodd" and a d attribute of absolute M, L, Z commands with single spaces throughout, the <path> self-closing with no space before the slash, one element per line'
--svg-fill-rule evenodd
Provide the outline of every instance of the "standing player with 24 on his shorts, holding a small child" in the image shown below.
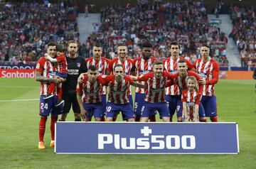
<path fill-rule="evenodd" d="M 50 57 L 54 58 L 56 55 L 56 45 L 55 43 L 49 43 L 47 48 L 47 54 Z M 39 122 L 39 143 L 38 148 L 46 148 L 43 143 L 44 133 L 46 131 L 46 121 L 49 114 L 51 114 L 50 121 L 50 133 L 51 141 L 50 146 L 55 145 L 55 122 L 58 119 L 58 114 L 61 114 L 63 111 L 63 105 L 61 104 L 58 107 L 55 107 L 57 102 L 56 92 L 53 91 L 53 97 L 49 99 L 43 99 L 47 95 L 47 89 L 50 86 L 50 83 L 55 84 L 60 83 L 60 79 L 55 77 L 56 67 L 50 61 L 46 60 L 46 57 L 41 57 L 36 64 L 36 81 L 41 82 L 41 96 L 40 96 L 40 122 Z"/>

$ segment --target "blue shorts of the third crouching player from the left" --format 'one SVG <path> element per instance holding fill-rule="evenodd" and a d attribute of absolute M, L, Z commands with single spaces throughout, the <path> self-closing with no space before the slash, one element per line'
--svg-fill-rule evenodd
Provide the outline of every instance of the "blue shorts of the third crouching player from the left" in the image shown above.
<path fill-rule="evenodd" d="M 142 117 L 150 117 L 156 114 L 156 110 L 159 111 L 160 118 L 170 116 L 170 111 L 166 102 L 164 103 L 149 103 L 144 101 L 144 106 L 142 107 Z"/>

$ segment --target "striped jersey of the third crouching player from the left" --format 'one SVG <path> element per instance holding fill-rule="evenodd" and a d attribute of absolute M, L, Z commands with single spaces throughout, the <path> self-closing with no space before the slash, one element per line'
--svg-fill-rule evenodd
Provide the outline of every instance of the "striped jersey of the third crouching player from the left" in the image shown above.
<path fill-rule="evenodd" d="M 174 76 L 165 71 L 159 80 L 156 80 L 154 77 L 154 72 L 149 72 L 140 77 L 137 77 L 138 81 L 146 82 L 146 96 L 144 100 L 151 103 L 166 102 L 165 84 L 168 80 L 173 79 Z"/>

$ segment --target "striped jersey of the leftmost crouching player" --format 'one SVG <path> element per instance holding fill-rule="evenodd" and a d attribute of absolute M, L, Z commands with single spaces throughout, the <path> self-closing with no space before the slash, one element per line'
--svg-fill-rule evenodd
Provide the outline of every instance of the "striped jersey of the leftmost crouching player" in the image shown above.
<path fill-rule="evenodd" d="M 82 92 L 83 103 L 99 103 L 102 102 L 102 82 L 97 77 L 94 83 L 88 81 L 88 75 L 83 75 L 82 83 L 78 83 L 76 92 Z"/>

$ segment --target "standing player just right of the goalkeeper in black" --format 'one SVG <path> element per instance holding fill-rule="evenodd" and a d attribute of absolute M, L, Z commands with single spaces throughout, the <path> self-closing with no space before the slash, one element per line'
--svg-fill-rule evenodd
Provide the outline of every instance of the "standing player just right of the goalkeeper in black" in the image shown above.
<path fill-rule="evenodd" d="M 93 57 L 85 59 L 87 67 L 90 67 L 91 65 L 95 65 L 100 75 L 107 75 L 107 67 L 109 65 L 110 60 L 102 57 L 102 45 L 99 43 L 96 43 L 92 49 L 92 54 L 93 54 Z M 107 88 L 104 86 L 103 94 L 102 94 L 103 109 L 106 109 L 106 103 L 107 103 L 106 94 L 107 94 Z M 102 117 L 102 121 L 105 121 L 104 116 Z"/>

